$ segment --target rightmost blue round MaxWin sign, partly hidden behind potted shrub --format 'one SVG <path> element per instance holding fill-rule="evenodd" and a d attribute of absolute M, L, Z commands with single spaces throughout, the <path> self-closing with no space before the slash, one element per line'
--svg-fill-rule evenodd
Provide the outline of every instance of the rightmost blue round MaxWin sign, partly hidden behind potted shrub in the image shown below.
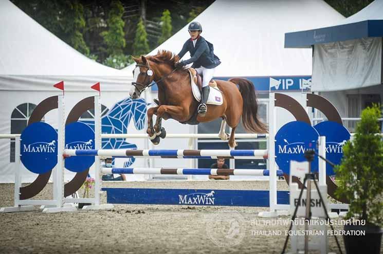
<path fill-rule="evenodd" d="M 314 126 L 320 136 L 326 137 L 326 159 L 340 164 L 343 157 L 343 145 L 350 140 L 350 132 L 336 122 L 325 121 Z M 326 175 L 334 175 L 334 168 L 326 163 Z"/>

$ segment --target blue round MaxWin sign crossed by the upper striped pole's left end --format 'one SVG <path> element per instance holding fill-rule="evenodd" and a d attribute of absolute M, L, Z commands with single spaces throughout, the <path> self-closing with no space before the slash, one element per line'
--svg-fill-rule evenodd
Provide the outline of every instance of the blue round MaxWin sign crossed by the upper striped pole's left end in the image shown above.
<path fill-rule="evenodd" d="M 95 132 L 88 125 L 74 122 L 65 126 L 65 149 L 95 149 Z M 65 159 L 65 168 L 72 172 L 82 172 L 95 162 L 94 156 L 74 156 Z"/>

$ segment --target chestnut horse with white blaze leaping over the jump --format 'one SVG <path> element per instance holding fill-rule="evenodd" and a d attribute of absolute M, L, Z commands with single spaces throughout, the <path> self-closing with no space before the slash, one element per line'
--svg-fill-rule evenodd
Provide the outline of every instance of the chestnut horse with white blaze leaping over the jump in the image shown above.
<path fill-rule="evenodd" d="M 152 143 L 157 145 L 160 138 L 165 138 L 166 131 L 161 127 L 162 119 L 174 119 L 180 123 L 189 122 L 196 114 L 199 103 L 194 99 L 189 71 L 175 69 L 178 55 L 170 51 L 160 50 L 156 55 L 133 57 L 136 68 L 133 71 L 134 80 L 130 95 L 138 99 L 141 93 L 156 82 L 160 105 L 148 109 L 147 133 Z M 248 132 L 266 133 L 267 126 L 257 115 L 258 102 L 254 85 L 245 79 L 233 78 L 228 81 L 216 80 L 218 88 L 223 94 L 222 105 L 207 105 L 205 116 L 197 116 L 198 123 L 205 123 L 222 118 L 221 130 L 218 136 L 227 140 L 226 123 L 232 128 L 229 146 L 234 148 L 235 128 L 242 116 L 243 127 Z M 238 86 L 238 88 L 237 88 Z M 153 126 L 153 114 L 157 115 Z M 196 124 L 196 123 L 194 123 Z"/>

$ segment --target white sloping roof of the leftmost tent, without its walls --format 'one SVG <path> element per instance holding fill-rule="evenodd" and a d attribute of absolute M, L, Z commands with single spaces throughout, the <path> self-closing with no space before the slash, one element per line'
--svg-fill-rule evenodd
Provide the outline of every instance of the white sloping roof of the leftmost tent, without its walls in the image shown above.
<path fill-rule="evenodd" d="M 46 90 L 60 80 L 74 90 L 95 82 L 126 90 L 131 82 L 131 73 L 82 55 L 8 0 L 0 0 L 0 24 L 0 90 Z"/>

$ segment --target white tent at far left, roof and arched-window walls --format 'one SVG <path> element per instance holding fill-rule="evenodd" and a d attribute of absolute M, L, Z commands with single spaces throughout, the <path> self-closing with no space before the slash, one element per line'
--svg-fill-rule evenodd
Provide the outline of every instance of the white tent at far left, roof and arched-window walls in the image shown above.
<path fill-rule="evenodd" d="M 62 80 L 66 113 L 84 97 L 96 94 L 90 89 L 96 82 L 101 83 L 102 104 L 106 107 L 128 96 L 131 73 L 90 60 L 8 0 L 0 0 L 0 24 L 0 133 L 12 133 L 12 129 L 20 133 L 23 124 L 20 128 L 11 126 L 26 124 L 33 105 L 60 94 L 52 86 Z M 44 120 L 56 127 L 56 114 L 47 114 Z M 1 182 L 14 180 L 10 146 L 9 140 L 0 140 Z M 35 177 L 27 172 L 23 175 L 26 181 Z"/>

